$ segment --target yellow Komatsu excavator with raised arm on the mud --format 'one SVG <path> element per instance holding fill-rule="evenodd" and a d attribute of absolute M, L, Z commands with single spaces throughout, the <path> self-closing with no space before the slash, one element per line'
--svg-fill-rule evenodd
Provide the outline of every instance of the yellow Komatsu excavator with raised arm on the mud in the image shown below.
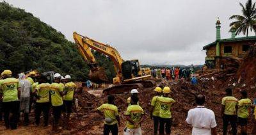
<path fill-rule="evenodd" d="M 90 67 L 89 79 L 95 83 L 108 82 L 108 77 L 104 68 L 100 67 L 92 50 L 100 52 L 108 56 L 114 63 L 116 77 L 113 78 L 114 86 L 103 90 L 105 95 L 124 93 L 132 90 L 132 88 L 147 88 L 156 85 L 155 81 L 150 80 L 150 68 L 141 68 L 138 60 L 124 61 L 119 52 L 114 47 L 107 44 L 102 44 L 88 38 L 73 33 L 74 40 L 77 44 L 77 49 L 88 62 Z"/>

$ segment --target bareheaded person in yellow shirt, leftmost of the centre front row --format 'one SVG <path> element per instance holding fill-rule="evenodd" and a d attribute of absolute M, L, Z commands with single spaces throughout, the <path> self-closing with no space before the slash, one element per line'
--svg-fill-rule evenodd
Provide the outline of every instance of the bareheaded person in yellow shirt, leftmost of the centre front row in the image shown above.
<path fill-rule="evenodd" d="M 113 95 L 108 95 L 108 103 L 102 104 L 97 110 L 100 115 L 102 115 L 103 112 L 105 116 L 103 134 L 109 135 L 111 132 L 113 135 L 117 135 L 120 118 L 117 107 L 115 106 L 115 97 Z"/>

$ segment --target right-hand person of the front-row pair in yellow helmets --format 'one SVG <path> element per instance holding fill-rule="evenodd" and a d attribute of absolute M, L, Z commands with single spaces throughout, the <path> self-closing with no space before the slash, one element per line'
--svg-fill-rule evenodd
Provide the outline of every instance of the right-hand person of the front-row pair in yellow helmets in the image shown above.
<path fill-rule="evenodd" d="M 164 129 L 166 134 L 171 134 L 171 126 L 172 126 L 172 112 L 171 107 L 175 100 L 170 98 L 171 89 L 166 86 L 163 88 L 163 97 L 159 97 L 158 100 L 160 102 L 160 110 L 159 110 L 159 123 L 160 129 L 159 134 L 164 134 Z M 165 128 L 164 128 L 165 126 Z"/>

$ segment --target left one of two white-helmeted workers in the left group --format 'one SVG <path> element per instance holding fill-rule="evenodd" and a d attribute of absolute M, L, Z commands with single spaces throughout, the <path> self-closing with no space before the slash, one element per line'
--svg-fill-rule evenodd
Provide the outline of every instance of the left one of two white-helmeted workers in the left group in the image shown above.
<path fill-rule="evenodd" d="M 51 104 L 52 104 L 52 113 L 53 113 L 53 123 L 52 123 L 52 131 L 58 131 L 62 129 L 59 126 L 59 120 L 61 117 L 61 110 L 63 105 L 62 96 L 65 95 L 67 91 L 63 91 L 63 85 L 60 84 L 61 75 L 56 73 L 53 76 L 54 83 L 50 86 L 51 92 Z"/>

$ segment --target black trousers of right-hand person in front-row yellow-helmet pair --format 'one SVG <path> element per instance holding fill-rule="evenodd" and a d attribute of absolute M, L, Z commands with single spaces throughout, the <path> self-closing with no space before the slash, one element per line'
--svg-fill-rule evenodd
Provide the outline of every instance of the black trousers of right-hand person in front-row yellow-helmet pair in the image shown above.
<path fill-rule="evenodd" d="M 172 118 L 159 118 L 159 134 L 164 134 L 164 127 L 166 134 L 171 134 Z"/>

